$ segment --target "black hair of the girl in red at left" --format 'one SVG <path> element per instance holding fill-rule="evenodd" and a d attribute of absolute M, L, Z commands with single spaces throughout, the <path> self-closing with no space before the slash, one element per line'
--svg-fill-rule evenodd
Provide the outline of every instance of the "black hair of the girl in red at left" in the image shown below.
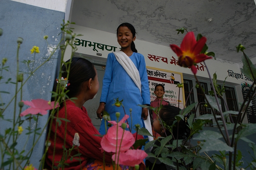
<path fill-rule="evenodd" d="M 66 61 L 66 63 L 68 63 Z M 68 67 L 68 66 L 67 66 Z M 62 66 L 62 77 L 67 77 L 67 68 L 64 64 Z M 94 80 L 96 76 L 96 71 L 94 70 L 94 65 L 88 61 L 87 59 L 80 58 L 80 57 L 73 57 L 70 64 L 70 71 L 68 76 L 68 83 L 70 85 L 67 87 L 68 90 L 68 97 L 76 97 L 80 92 L 82 83 L 88 81 L 90 78 Z M 54 91 L 56 91 L 57 82 L 54 82 Z"/>

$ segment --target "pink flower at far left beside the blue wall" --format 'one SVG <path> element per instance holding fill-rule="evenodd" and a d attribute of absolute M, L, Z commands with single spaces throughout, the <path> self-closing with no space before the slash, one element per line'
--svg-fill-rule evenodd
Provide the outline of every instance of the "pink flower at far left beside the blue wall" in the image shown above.
<path fill-rule="evenodd" d="M 20 116 L 26 116 L 28 114 L 36 115 L 38 113 L 41 113 L 41 115 L 46 115 L 48 113 L 47 110 L 54 108 L 54 101 L 49 102 L 43 99 L 35 99 L 32 101 L 22 101 L 25 105 L 31 106 L 30 108 L 26 109 L 22 113 L 20 113 Z M 55 108 L 59 107 L 59 104 L 55 106 Z"/>

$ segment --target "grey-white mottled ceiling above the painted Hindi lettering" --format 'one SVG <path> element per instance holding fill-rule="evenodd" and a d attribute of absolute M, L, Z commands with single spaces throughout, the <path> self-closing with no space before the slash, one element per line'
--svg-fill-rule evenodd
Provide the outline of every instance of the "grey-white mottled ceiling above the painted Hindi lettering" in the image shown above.
<path fill-rule="evenodd" d="M 241 43 L 256 63 L 254 0 L 74 0 L 71 22 L 114 34 L 129 22 L 137 39 L 166 46 L 180 45 L 184 34 L 176 29 L 184 27 L 205 36 L 217 59 L 241 63 Z"/>

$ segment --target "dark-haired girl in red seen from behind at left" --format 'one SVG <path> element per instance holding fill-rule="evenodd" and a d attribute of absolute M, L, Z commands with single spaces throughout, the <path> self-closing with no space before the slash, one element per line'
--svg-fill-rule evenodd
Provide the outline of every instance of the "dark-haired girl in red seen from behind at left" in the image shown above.
<path fill-rule="evenodd" d="M 68 62 L 68 61 L 67 61 Z M 62 76 L 66 78 L 67 72 L 65 65 L 62 67 Z M 56 87 L 56 84 L 55 84 Z M 94 97 L 99 89 L 98 75 L 94 68 L 94 65 L 86 59 L 74 57 L 70 65 L 70 73 L 68 78 L 68 97 L 76 97 L 73 99 L 74 103 L 70 100 L 66 100 L 66 104 L 62 103 L 60 111 L 58 113 L 59 118 L 68 119 L 68 122 L 62 121 L 61 125 L 58 124 L 56 119 L 53 120 L 50 141 L 51 145 L 48 148 L 46 163 L 51 168 L 62 169 L 58 167 L 63 154 L 64 138 L 66 134 L 65 148 L 69 150 L 73 146 L 73 138 L 75 133 L 80 136 L 79 152 L 74 149 L 70 156 L 65 160 L 65 170 L 103 170 L 103 153 L 100 148 L 101 137 L 95 136 L 99 134 L 98 130 L 92 125 L 92 121 L 89 118 L 84 103 Z M 55 115 L 57 117 L 57 115 Z M 67 123 L 65 132 L 65 123 Z M 54 146 L 54 138 L 56 132 L 56 142 Z M 78 145 L 76 143 L 76 145 Z M 71 156 L 77 155 L 72 159 Z M 65 159 L 65 158 L 64 158 Z M 80 160 L 79 160 L 80 159 Z M 105 155 L 106 168 L 111 167 L 112 159 L 110 153 Z M 111 169 L 111 168 L 110 168 Z M 112 168 L 113 169 L 113 168 Z"/>

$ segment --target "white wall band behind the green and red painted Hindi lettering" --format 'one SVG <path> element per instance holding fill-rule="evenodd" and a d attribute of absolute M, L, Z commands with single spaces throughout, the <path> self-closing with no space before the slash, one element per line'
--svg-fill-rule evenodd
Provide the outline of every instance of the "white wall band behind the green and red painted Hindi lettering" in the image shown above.
<path fill-rule="evenodd" d="M 95 30 L 91 28 L 86 28 L 78 25 L 71 25 L 72 28 L 74 28 L 73 32 L 76 34 L 82 34 L 83 36 L 78 36 L 77 38 L 79 40 L 86 40 L 87 42 L 87 47 L 82 47 L 82 45 L 77 46 L 78 50 L 76 51 L 77 53 L 82 53 L 90 56 L 95 56 L 95 57 L 102 57 L 104 59 L 107 58 L 108 53 L 112 51 L 107 51 L 106 49 L 98 49 L 97 51 L 93 50 L 93 46 L 89 47 L 88 44 L 90 42 L 93 44 L 95 43 L 100 43 L 104 45 L 110 45 L 114 47 L 118 47 L 116 49 L 119 50 L 120 45 L 117 42 L 116 34 L 112 34 L 109 32 L 103 32 L 100 30 Z M 82 42 L 82 41 L 81 41 Z M 139 40 L 139 37 L 136 38 L 135 40 L 135 46 L 136 49 L 138 50 L 139 53 L 142 53 L 145 57 L 146 65 L 150 67 L 156 67 L 156 68 L 161 68 L 161 69 L 166 69 L 170 71 L 176 71 L 176 72 L 181 72 L 181 73 L 186 73 L 188 75 L 192 75 L 192 72 L 188 68 L 180 67 L 178 65 L 170 64 L 170 61 L 172 57 L 174 57 L 176 60 L 178 57 L 176 54 L 170 49 L 170 47 L 166 47 L 164 45 L 157 45 L 154 43 L 150 42 L 145 42 L 142 40 Z M 177 44 L 180 45 L 180 44 Z M 102 56 L 97 55 L 97 53 L 101 53 Z M 67 55 L 65 55 L 65 60 L 69 59 L 71 54 L 71 51 L 67 51 Z M 151 61 L 149 55 L 156 55 L 159 56 L 158 61 Z M 168 59 L 168 63 L 163 62 L 161 59 L 162 57 Z M 216 56 L 218 58 L 218 56 Z M 204 64 L 204 63 L 202 63 Z M 200 65 L 200 63 L 198 64 Z M 214 59 L 208 59 L 206 60 L 206 65 L 209 68 L 211 76 L 216 72 L 217 74 L 217 79 L 224 81 L 224 79 L 228 76 L 228 70 L 234 71 L 234 73 L 241 73 L 239 65 L 237 63 L 232 63 L 224 60 L 214 60 Z M 208 77 L 208 73 L 206 71 L 206 67 L 204 67 L 204 71 L 198 71 L 197 73 L 198 76 L 200 77 Z M 234 83 L 235 85 L 240 84 L 243 79 L 236 79 L 234 77 L 227 77 L 226 79 L 227 82 Z"/>

